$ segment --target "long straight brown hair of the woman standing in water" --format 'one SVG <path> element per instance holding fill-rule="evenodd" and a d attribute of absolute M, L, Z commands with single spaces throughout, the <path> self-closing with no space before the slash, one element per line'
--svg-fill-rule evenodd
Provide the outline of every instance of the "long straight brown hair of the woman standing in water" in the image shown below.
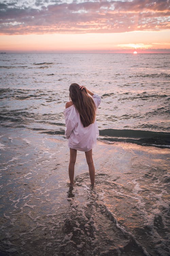
<path fill-rule="evenodd" d="M 93 124 L 96 117 L 96 104 L 94 100 L 88 95 L 85 88 L 80 89 L 76 83 L 70 85 L 69 91 L 69 96 L 80 114 L 83 126 L 87 127 Z"/>

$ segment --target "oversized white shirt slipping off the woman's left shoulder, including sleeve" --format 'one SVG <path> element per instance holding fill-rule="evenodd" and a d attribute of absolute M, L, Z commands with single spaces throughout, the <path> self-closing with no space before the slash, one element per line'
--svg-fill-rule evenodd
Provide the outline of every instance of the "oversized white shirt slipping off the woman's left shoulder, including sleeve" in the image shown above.
<path fill-rule="evenodd" d="M 101 97 L 94 94 L 92 98 L 98 108 L 101 102 Z M 99 136 L 96 119 L 93 124 L 83 127 L 80 114 L 75 109 L 74 105 L 65 109 L 64 115 L 66 122 L 65 137 L 68 139 L 68 147 L 84 152 L 91 150 L 92 147 L 95 146 L 97 137 Z"/>

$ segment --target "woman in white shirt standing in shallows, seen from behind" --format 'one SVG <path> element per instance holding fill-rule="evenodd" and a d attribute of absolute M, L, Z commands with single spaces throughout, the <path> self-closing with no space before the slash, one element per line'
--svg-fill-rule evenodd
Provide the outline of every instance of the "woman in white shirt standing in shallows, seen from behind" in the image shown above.
<path fill-rule="evenodd" d="M 91 185 L 95 183 L 95 167 L 92 159 L 92 147 L 97 142 L 99 129 L 96 122 L 96 109 L 101 97 L 91 93 L 85 86 L 71 84 L 69 88 L 71 101 L 66 103 L 64 111 L 66 129 L 65 137 L 70 148 L 69 178 L 74 184 L 74 165 L 77 150 L 84 151 L 89 168 Z M 92 96 L 92 98 L 89 95 Z"/>

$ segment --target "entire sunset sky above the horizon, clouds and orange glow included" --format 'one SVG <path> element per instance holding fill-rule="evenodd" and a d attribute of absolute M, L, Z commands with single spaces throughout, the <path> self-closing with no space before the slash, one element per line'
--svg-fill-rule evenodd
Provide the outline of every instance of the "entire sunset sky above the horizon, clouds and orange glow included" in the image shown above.
<path fill-rule="evenodd" d="M 0 51 L 170 53 L 170 1 L 0 0 Z"/>

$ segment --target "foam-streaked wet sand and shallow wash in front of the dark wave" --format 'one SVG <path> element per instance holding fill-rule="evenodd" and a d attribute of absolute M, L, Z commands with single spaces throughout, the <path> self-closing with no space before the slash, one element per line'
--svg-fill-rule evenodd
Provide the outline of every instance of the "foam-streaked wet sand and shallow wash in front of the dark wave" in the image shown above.
<path fill-rule="evenodd" d="M 1 135 L 1 255 L 168 256 L 168 148 L 98 141 L 69 186 L 67 140 Z M 2 133 L 3 134 L 3 133 Z"/>

